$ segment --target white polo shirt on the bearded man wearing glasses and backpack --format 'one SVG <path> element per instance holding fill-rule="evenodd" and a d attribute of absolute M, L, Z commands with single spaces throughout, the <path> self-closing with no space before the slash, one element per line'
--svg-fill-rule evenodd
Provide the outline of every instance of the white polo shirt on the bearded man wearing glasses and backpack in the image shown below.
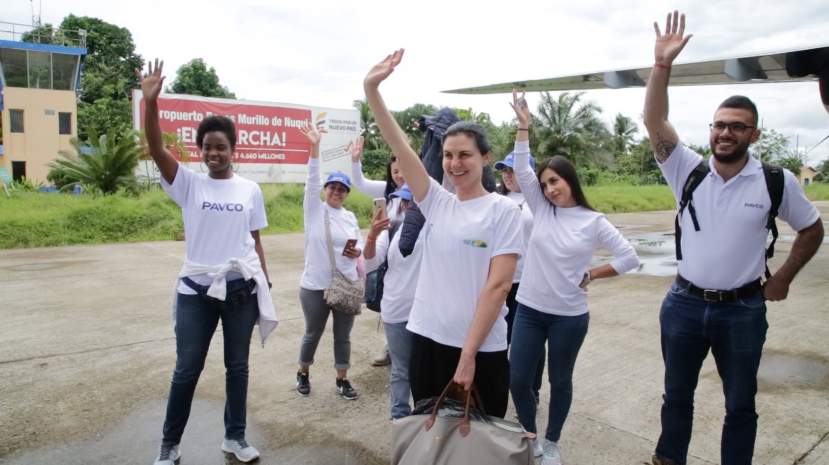
<path fill-rule="evenodd" d="M 677 207 L 682 186 L 702 160 L 700 154 L 679 142 L 667 161 L 659 164 Z M 772 202 L 763 164 L 749 156 L 743 170 L 728 182 L 717 174 L 713 157 L 709 166 L 710 172 L 697 186 L 692 201 L 700 230 L 694 230 L 687 206 L 680 218 L 682 259 L 678 271 L 700 288 L 739 288 L 765 271 L 766 221 Z M 793 230 L 803 230 L 814 224 L 820 213 L 806 198 L 797 178 L 788 170 L 783 172 L 783 203 L 778 219 Z"/>

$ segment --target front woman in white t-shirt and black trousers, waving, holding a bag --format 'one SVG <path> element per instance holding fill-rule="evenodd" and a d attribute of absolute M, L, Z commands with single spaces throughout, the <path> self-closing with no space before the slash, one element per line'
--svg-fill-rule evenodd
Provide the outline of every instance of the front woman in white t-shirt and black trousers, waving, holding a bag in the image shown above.
<path fill-rule="evenodd" d="M 492 151 L 478 124 L 453 124 L 444 134 L 444 172 L 457 195 L 429 177 L 378 89 L 402 58 L 401 49 L 375 65 L 364 88 L 377 127 L 426 217 L 423 260 L 406 325 L 414 332 L 412 397 L 417 403 L 440 395 L 452 380 L 466 390 L 474 383 L 487 414 L 503 417 L 509 400 L 504 301 L 521 254 L 521 211 L 482 185 Z"/>

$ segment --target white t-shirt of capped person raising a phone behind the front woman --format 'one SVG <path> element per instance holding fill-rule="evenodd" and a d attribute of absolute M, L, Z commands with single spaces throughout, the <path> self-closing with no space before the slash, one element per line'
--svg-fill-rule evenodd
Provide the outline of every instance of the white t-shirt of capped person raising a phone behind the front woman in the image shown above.
<path fill-rule="evenodd" d="M 402 218 L 401 218 L 402 221 Z M 376 269 L 389 259 L 389 269 L 383 279 L 383 299 L 380 307 L 380 316 L 383 322 L 403 323 L 409 321 L 409 313 L 414 304 L 414 293 L 417 289 L 420 274 L 420 262 L 423 258 L 424 230 L 420 230 L 414 250 L 408 257 L 400 253 L 400 225 L 395 236 L 389 243 L 389 231 L 383 231 L 377 236 L 374 259 L 366 262 L 367 269 Z"/>

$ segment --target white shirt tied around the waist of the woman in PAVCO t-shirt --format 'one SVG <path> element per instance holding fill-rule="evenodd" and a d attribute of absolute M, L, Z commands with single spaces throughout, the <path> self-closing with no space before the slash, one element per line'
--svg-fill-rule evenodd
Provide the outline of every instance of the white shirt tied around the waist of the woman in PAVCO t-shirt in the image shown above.
<path fill-rule="evenodd" d="M 259 262 L 259 254 L 254 250 L 244 259 L 229 259 L 224 264 L 205 265 L 193 263 L 188 259 L 184 259 L 184 266 L 179 272 L 176 279 L 176 285 L 172 288 L 172 326 L 176 327 L 176 305 L 178 302 L 178 286 L 182 283 L 182 278 L 186 276 L 194 276 L 197 274 L 206 274 L 213 279 L 210 288 L 207 289 L 207 295 L 219 300 L 225 300 L 227 297 L 227 274 L 235 272 L 242 275 L 244 279 L 253 279 L 256 282 L 256 287 L 253 292 L 256 295 L 256 300 L 259 303 L 259 336 L 262 338 L 262 345 L 268 339 L 271 332 L 276 329 L 279 320 L 276 317 L 276 308 L 274 308 L 274 300 L 270 297 L 270 289 L 268 288 L 268 279 L 264 276 L 262 264 Z"/>

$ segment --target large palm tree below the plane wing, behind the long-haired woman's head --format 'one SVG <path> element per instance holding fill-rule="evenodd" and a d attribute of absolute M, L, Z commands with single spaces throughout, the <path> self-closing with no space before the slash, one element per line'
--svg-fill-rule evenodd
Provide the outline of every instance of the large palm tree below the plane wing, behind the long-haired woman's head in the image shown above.
<path fill-rule="evenodd" d="M 549 92 L 541 94 L 531 133 L 541 157 L 563 155 L 577 165 L 609 162 L 610 132 L 599 117 L 602 109 L 593 101 L 582 101 L 582 95 L 562 92 L 555 99 Z"/>

